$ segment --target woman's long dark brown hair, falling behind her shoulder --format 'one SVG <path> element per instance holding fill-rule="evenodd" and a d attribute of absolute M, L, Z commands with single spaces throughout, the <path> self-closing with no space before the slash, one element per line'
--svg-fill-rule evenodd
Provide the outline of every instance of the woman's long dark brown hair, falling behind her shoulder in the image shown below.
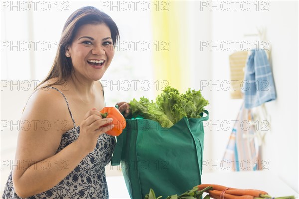
<path fill-rule="evenodd" d="M 56 78 L 53 83 L 47 82 L 46 86 L 54 84 L 63 84 L 66 79 L 71 75 L 73 64 L 71 58 L 65 56 L 65 51 L 72 43 L 78 29 L 85 24 L 106 24 L 111 32 L 112 44 L 115 47 L 116 42 L 119 40 L 119 30 L 117 25 L 110 16 L 95 7 L 87 6 L 77 9 L 73 12 L 64 24 L 58 51 L 55 56 L 54 63 L 47 77 L 39 83 L 35 89 L 43 85 L 49 79 Z M 43 87 L 43 86 L 42 86 Z"/>

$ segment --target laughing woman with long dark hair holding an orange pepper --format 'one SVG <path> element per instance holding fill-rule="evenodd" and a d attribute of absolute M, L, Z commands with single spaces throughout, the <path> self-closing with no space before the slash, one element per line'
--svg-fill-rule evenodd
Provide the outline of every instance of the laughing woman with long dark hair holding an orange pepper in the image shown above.
<path fill-rule="evenodd" d="M 113 121 L 99 114 L 105 101 L 98 80 L 118 39 L 114 21 L 94 7 L 68 18 L 51 71 L 24 108 L 30 128 L 19 132 L 4 199 L 108 199 L 104 166 L 115 138 L 105 133 Z M 128 115 L 129 105 L 118 105 Z"/>

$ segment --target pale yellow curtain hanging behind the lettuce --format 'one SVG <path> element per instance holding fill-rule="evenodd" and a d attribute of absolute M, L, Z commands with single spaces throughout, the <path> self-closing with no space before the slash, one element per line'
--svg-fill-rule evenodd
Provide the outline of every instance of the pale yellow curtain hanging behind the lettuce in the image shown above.
<path fill-rule="evenodd" d="M 190 85 L 187 2 L 152 1 L 153 67 L 158 89 L 167 84 L 184 92 Z"/>

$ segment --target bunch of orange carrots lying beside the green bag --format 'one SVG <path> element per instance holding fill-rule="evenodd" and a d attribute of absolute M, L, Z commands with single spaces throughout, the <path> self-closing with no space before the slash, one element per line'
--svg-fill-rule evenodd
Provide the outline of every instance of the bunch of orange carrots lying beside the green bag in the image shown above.
<path fill-rule="evenodd" d="M 295 199 L 294 196 L 272 198 L 267 192 L 262 190 L 237 189 L 214 184 L 201 184 L 195 186 L 194 188 L 196 187 L 197 190 L 203 190 L 207 187 L 212 187 L 212 189 L 208 189 L 205 192 L 207 192 L 210 197 L 214 199 Z"/>

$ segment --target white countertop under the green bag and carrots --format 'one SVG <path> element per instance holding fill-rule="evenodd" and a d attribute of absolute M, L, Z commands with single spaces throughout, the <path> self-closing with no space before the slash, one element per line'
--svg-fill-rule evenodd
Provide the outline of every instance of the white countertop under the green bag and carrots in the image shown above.
<path fill-rule="evenodd" d="M 130 199 L 123 176 L 107 176 L 106 179 L 109 199 Z M 296 199 L 299 198 L 298 193 L 270 171 L 203 173 L 201 181 L 202 184 L 219 184 L 240 189 L 259 189 L 268 192 L 272 197 L 294 195 Z"/>

